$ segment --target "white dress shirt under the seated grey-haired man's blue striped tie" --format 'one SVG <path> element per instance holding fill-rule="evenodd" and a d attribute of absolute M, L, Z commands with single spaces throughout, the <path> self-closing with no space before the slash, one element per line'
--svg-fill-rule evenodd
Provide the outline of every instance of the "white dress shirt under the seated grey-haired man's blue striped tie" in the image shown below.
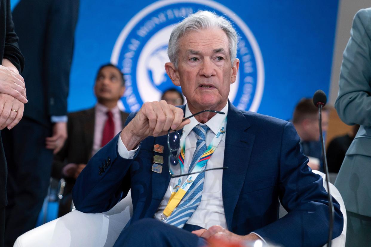
<path fill-rule="evenodd" d="M 215 114 L 209 121 L 206 122 L 206 125 L 210 128 L 206 133 L 206 146 L 209 146 L 215 134 L 218 133 L 223 120 L 226 118 L 228 112 L 228 103 L 221 110 L 226 114 Z M 188 108 L 188 105 L 185 106 L 185 117 L 191 116 L 192 113 Z M 188 171 L 188 167 L 191 164 L 194 151 L 196 150 L 197 137 L 194 133 L 193 127 L 197 124 L 200 124 L 194 117 L 191 119 L 191 123 L 184 126 L 184 135 L 182 139 L 185 138 L 185 157 L 184 157 L 184 170 Z M 226 134 L 228 130 L 226 130 Z M 221 141 L 219 142 L 216 150 L 211 155 L 209 161 L 207 161 L 206 168 L 216 168 L 223 167 L 224 160 L 224 146 L 225 146 L 226 137 L 223 134 Z M 187 224 L 197 225 L 203 228 L 208 229 L 214 225 L 220 225 L 224 228 L 227 228 L 226 217 L 224 215 L 223 200 L 221 194 L 221 179 L 223 177 L 223 170 L 211 170 L 205 172 L 204 178 L 204 187 L 202 190 L 202 197 L 200 205 L 198 205 L 196 211 L 188 219 Z M 185 180 L 185 178 L 183 178 Z M 162 199 L 160 206 L 157 208 L 155 213 L 155 218 L 161 219 L 161 213 L 164 211 L 169 198 L 171 196 L 170 187 L 174 187 L 178 181 L 178 178 L 172 178 L 170 180 L 169 188 L 165 193 L 164 198 Z M 184 181 L 182 181 L 184 183 Z"/>

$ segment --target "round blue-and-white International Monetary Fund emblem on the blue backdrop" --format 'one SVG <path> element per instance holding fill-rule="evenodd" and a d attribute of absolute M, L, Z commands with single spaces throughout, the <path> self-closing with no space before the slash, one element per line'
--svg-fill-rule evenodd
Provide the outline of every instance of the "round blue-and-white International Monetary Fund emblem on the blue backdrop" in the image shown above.
<path fill-rule="evenodd" d="M 246 23 L 226 6 L 211 0 L 161 0 L 145 7 L 125 25 L 111 54 L 111 63 L 124 74 L 126 111 L 137 111 L 146 101 L 159 100 L 174 87 L 164 64 L 174 25 L 198 10 L 210 10 L 232 21 L 239 34 L 240 69 L 231 85 L 230 101 L 241 110 L 257 111 L 264 89 L 262 54 Z M 180 88 L 179 88 L 180 90 Z"/>

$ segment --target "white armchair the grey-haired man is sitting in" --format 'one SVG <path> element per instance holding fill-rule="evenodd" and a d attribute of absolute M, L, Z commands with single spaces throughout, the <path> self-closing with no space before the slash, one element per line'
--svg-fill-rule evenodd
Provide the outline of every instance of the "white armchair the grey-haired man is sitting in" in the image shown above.
<path fill-rule="evenodd" d="M 325 176 L 319 171 L 313 172 L 323 178 Z M 324 187 L 327 190 L 325 182 Z M 330 187 L 331 194 L 340 203 L 344 215 L 344 229 L 339 237 L 332 240 L 332 246 L 343 247 L 347 232 L 347 214 L 339 191 L 332 184 Z M 131 215 L 132 203 L 129 191 L 127 197 L 106 213 L 85 214 L 74 210 L 19 236 L 14 247 L 111 247 Z"/>

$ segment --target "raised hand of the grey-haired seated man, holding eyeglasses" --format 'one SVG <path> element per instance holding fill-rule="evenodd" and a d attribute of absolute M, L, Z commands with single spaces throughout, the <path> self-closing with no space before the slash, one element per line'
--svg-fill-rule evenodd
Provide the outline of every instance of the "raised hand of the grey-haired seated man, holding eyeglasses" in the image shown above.
<path fill-rule="evenodd" d="M 121 140 L 128 150 L 133 150 L 148 136 L 163 136 L 170 128 L 180 130 L 189 124 L 189 119 L 182 122 L 183 115 L 182 109 L 167 104 L 165 100 L 146 102 L 121 131 Z"/>

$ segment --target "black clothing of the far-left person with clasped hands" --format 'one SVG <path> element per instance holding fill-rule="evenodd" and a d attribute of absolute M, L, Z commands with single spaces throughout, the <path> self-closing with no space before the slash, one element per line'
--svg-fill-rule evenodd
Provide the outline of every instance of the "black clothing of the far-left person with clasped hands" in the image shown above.
<path fill-rule="evenodd" d="M 10 12 L 10 1 L 0 1 L 0 63 L 3 59 L 8 59 L 18 71 L 22 72 L 24 58 L 18 48 L 18 37 L 14 32 L 12 13 Z M 6 200 L 6 160 L 4 156 L 3 144 L 0 136 L 0 246 L 3 246 L 4 235 L 4 208 Z"/>

